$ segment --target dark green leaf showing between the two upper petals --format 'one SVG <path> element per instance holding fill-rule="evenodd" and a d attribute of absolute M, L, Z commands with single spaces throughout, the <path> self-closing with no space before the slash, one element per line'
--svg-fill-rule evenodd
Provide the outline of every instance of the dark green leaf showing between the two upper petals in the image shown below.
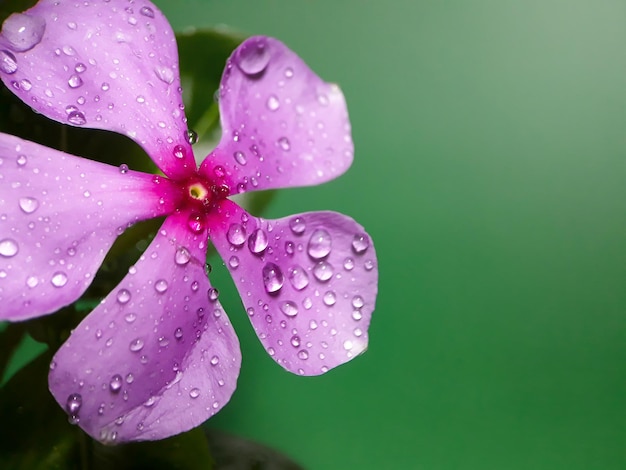
<path fill-rule="evenodd" d="M 226 59 L 246 36 L 225 29 L 189 30 L 176 35 L 189 128 L 200 138 L 219 126 L 214 99 Z"/>

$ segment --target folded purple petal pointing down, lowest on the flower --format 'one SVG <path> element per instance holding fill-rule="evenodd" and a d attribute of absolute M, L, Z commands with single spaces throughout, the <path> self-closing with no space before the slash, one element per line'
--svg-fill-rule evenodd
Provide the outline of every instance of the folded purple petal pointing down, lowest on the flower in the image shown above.
<path fill-rule="evenodd" d="M 137 264 L 53 359 L 50 390 L 107 443 L 156 440 L 217 413 L 235 390 L 237 336 L 204 271 L 206 232 L 168 217 Z"/>

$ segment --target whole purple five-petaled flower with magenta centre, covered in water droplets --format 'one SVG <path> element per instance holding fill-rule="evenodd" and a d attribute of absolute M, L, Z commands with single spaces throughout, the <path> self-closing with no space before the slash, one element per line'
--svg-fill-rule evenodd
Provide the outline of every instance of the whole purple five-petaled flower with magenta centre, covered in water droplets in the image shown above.
<path fill-rule="evenodd" d="M 115 238 L 167 216 L 121 283 L 73 331 L 49 384 L 104 442 L 188 430 L 230 399 L 239 343 L 204 271 L 208 240 L 267 352 L 317 375 L 367 347 L 374 246 L 334 212 L 265 220 L 228 199 L 319 184 L 352 162 L 343 95 L 279 41 L 253 37 L 226 64 L 222 139 L 196 166 L 176 41 L 148 1 L 42 0 L 9 17 L 0 77 L 25 103 L 140 144 L 165 176 L 112 167 L 0 134 L 0 318 L 74 302 Z"/>

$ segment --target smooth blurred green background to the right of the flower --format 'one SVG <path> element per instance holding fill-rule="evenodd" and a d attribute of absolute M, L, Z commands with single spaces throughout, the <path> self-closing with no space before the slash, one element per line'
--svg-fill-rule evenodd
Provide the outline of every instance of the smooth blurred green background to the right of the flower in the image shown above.
<path fill-rule="evenodd" d="M 316 469 L 626 468 L 626 2 L 156 3 L 340 84 L 353 167 L 266 215 L 350 214 L 379 256 L 370 348 L 322 377 L 220 283 L 244 362 L 210 426 Z"/>

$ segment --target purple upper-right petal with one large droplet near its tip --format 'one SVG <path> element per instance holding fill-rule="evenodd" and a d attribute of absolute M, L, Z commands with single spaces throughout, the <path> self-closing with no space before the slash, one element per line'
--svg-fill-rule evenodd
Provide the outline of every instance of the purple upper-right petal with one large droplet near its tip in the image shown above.
<path fill-rule="evenodd" d="M 219 105 L 222 140 L 201 171 L 222 167 L 233 193 L 319 184 L 352 163 L 341 90 L 276 39 L 253 37 L 235 50 Z"/>

